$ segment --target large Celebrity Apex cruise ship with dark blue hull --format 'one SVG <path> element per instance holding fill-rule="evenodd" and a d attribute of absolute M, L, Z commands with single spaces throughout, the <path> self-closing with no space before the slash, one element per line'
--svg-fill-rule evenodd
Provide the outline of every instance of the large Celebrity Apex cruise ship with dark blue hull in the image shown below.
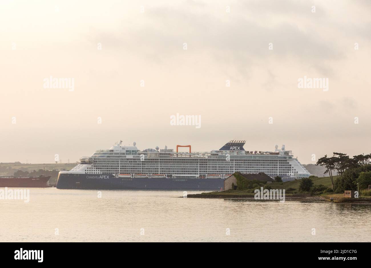
<path fill-rule="evenodd" d="M 58 175 L 59 189 L 223 190 L 234 172 L 264 172 L 283 181 L 311 174 L 285 145 L 270 151 L 246 151 L 245 140 L 230 140 L 219 150 L 192 152 L 191 145 L 138 150 L 122 141 L 109 150 L 97 150 L 80 164 Z M 189 152 L 178 152 L 185 147 Z"/>

